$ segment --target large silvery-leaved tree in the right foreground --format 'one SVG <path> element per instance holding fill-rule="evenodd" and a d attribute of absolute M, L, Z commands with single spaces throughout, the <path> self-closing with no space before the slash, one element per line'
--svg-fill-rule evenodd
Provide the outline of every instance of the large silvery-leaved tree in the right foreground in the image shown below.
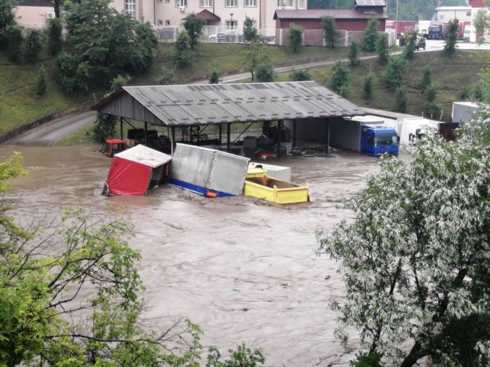
<path fill-rule="evenodd" d="M 483 367 L 490 362 L 490 110 L 448 144 L 428 133 L 407 160 L 382 159 L 346 207 L 353 220 L 318 251 L 338 262 L 347 295 L 337 335 L 386 365 Z M 400 349 L 401 342 L 410 342 Z"/>

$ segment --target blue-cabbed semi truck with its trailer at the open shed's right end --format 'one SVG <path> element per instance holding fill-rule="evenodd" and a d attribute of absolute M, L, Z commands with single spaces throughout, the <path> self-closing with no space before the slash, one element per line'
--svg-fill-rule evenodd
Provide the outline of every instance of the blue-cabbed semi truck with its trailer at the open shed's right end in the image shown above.
<path fill-rule="evenodd" d="M 398 135 L 379 117 L 354 116 L 330 122 L 330 145 L 372 157 L 398 156 Z"/>

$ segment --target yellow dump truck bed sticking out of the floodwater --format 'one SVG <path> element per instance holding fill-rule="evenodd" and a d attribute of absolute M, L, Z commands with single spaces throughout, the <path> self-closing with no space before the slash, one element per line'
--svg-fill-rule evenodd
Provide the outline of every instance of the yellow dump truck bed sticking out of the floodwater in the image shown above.
<path fill-rule="evenodd" d="M 266 175 L 249 178 L 247 174 L 243 194 L 277 204 L 306 203 L 308 184 L 301 186 Z"/>

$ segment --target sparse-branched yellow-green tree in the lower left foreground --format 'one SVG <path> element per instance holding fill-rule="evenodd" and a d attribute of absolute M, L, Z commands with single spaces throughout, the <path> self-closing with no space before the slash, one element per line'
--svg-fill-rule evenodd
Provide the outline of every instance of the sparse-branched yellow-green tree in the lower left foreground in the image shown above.
<path fill-rule="evenodd" d="M 2 191 L 24 173 L 18 153 L 0 164 Z M 140 254 L 127 242 L 134 235 L 125 218 L 73 208 L 22 228 L 9 209 L 3 202 L 0 365 L 197 365 L 197 326 L 157 331 L 141 320 Z"/>

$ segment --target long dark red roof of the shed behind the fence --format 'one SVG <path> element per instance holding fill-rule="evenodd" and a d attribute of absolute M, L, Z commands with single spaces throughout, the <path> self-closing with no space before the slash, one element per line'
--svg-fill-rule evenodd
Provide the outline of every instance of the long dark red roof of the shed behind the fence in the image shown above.
<path fill-rule="evenodd" d="M 383 13 L 363 13 L 354 9 L 277 9 L 274 19 L 321 19 L 327 15 L 335 19 L 371 19 L 373 14 L 378 19 L 388 19 L 385 11 Z"/>

